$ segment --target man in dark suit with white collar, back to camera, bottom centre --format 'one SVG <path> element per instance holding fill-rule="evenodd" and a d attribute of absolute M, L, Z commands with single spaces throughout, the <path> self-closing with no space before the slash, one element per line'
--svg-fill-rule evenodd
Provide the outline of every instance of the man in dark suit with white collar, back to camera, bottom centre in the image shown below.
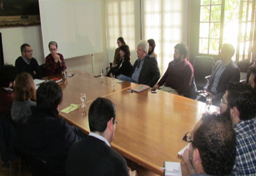
<path fill-rule="evenodd" d="M 91 133 L 71 147 L 66 160 L 67 175 L 136 175 L 136 171 L 128 173 L 125 159 L 110 146 L 117 125 L 113 103 L 95 99 L 88 118 Z"/>

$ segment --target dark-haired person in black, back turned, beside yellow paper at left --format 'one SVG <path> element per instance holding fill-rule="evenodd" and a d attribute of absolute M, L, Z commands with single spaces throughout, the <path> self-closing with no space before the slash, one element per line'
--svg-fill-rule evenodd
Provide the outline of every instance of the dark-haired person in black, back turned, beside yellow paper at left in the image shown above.
<path fill-rule="evenodd" d="M 65 175 L 64 162 L 69 148 L 85 137 L 78 128 L 58 116 L 62 96 L 62 89 L 55 81 L 41 84 L 36 92 L 37 106 L 31 106 L 32 115 L 26 123 L 17 124 L 15 144 L 18 150 L 45 163 L 46 169 L 35 170 L 35 175 L 49 175 L 39 173 L 44 170 L 53 175 Z M 33 163 L 31 165 L 33 169 Z"/>

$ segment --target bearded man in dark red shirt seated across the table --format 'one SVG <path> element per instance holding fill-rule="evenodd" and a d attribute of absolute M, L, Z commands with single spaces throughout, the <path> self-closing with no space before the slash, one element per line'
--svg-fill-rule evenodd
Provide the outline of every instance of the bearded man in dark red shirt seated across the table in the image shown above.
<path fill-rule="evenodd" d="M 196 97 L 196 86 L 194 84 L 194 68 L 186 59 L 187 46 L 183 43 L 174 46 L 174 60 L 169 63 L 165 75 L 158 81 L 153 88 L 163 86 L 161 90 L 179 95 L 188 95 L 190 87 L 193 88 L 193 95 L 188 97 Z"/>

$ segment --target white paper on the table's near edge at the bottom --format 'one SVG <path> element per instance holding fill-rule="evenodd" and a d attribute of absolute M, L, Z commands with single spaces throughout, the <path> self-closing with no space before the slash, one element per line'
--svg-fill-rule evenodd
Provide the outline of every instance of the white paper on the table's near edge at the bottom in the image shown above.
<path fill-rule="evenodd" d="M 181 163 L 179 162 L 165 162 L 163 169 L 165 169 L 165 176 L 182 176 Z"/>

